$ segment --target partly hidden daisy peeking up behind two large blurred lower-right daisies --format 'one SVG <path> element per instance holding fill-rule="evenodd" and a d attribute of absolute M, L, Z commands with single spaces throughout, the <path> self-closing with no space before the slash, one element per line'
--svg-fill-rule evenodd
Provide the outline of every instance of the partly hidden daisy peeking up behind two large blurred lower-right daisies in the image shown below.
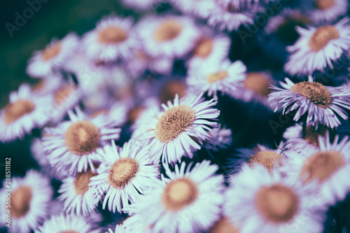
<path fill-rule="evenodd" d="M 285 146 L 286 145 L 281 142 L 275 150 L 261 145 L 258 145 L 255 150 L 247 148 L 238 149 L 238 153 L 233 155 L 228 162 L 228 168 L 231 169 L 229 174 L 236 174 L 245 164 L 248 164 L 249 167 L 261 165 L 265 167 L 269 173 L 272 173 L 274 170 L 279 170 L 279 167 L 283 166 L 283 158 L 286 157 Z"/>

